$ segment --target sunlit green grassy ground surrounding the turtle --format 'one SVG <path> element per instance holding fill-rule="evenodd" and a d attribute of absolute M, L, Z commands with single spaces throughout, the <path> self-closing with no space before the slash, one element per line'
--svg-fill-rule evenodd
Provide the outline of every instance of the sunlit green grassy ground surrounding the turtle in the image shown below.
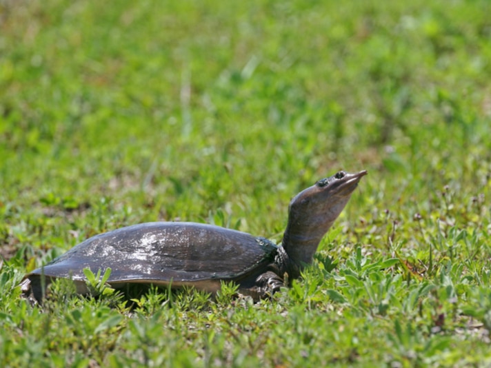
<path fill-rule="evenodd" d="M 0 1 L 1 365 L 490 365 L 490 13 Z M 26 272 L 124 225 L 279 242 L 290 198 L 341 168 L 369 175 L 273 300 L 19 296 Z"/>

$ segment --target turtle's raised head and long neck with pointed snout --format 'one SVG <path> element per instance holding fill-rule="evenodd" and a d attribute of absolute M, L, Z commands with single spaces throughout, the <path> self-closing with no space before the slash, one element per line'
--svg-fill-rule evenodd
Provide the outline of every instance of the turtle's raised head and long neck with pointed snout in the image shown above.
<path fill-rule="evenodd" d="M 357 174 L 337 172 L 294 196 L 288 208 L 283 248 L 301 266 L 311 263 L 321 239 L 341 214 L 365 170 Z"/>

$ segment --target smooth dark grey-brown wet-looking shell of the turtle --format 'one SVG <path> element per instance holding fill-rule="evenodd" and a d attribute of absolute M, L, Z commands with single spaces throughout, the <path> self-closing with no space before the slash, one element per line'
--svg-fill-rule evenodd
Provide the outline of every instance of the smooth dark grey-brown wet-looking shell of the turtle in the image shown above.
<path fill-rule="evenodd" d="M 108 283 L 194 285 L 214 292 L 220 280 L 240 281 L 264 272 L 277 246 L 265 238 L 199 223 L 143 223 L 93 236 L 34 269 L 32 286 L 46 278 L 85 280 L 83 269 L 111 268 Z"/>

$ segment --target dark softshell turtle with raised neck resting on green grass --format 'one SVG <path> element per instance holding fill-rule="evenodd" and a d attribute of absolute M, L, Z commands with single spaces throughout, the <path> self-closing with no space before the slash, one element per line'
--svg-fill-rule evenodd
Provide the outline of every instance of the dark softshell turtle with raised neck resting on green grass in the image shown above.
<path fill-rule="evenodd" d="M 257 300 L 277 292 L 284 280 L 298 278 L 312 262 L 321 238 L 365 174 L 365 170 L 340 171 L 294 196 L 280 245 L 214 225 L 142 223 L 89 238 L 34 269 L 21 287 L 40 300 L 42 285 L 53 278 L 72 278 L 83 294 L 87 292 L 83 269 L 104 272 L 110 267 L 108 283 L 114 288 L 133 283 L 189 285 L 214 293 L 222 280 L 232 280 L 241 294 Z"/>

